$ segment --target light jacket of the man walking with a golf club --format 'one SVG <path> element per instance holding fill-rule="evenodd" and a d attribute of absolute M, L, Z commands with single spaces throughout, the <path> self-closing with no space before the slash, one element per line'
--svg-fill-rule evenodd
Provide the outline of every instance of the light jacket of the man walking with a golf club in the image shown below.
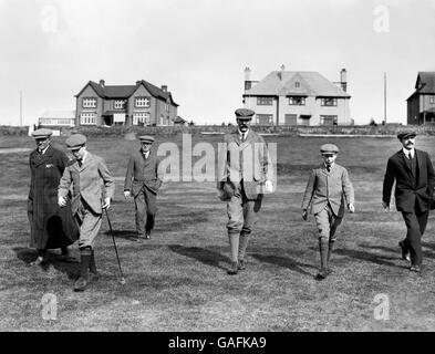
<path fill-rule="evenodd" d="M 102 214 L 104 198 L 112 199 L 115 192 L 115 181 L 104 159 L 89 152 L 82 166 L 79 166 L 77 160 L 69 163 L 59 184 L 58 196 L 65 197 L 71 185 L 73 215 L 77 212 L 81 198 L 95 214 Z"/>

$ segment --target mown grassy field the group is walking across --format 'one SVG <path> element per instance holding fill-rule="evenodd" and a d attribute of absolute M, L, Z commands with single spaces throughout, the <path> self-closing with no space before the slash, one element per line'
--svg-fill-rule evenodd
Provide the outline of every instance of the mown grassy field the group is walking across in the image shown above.
<path fill-rule="evenodd" d="M 194 137 L 217 145 L 221 136 Z M 158 143 L 180 144 L 180 135 Z M 214 183 L 166 183 L 158 195 L 152 239 L 134 242 L 134 205 L 123 198 L 127 156 L 137 142 L 94 139 L 89 150 L 104 157 L 116 179 L 110 216 L 126 275 L 118 269 L 106 219 L 96 243 L 101 279 L 83 293 L 72 291 L 76 261 L 28 267 L 29 152 L 1 154 L 0 160 L 0 317 L 1 331 L 434 331 L 434 216 L 424 236 L 424 269 L 410 273 L 397 241 L 405 233 L 398 212 L 381 208 L 387 157 L 400 149 L 395 138 L 292 138 L 278 143 L 278 184 L 266 196 L 248 248 L 247 270 L 226 273 L 229 247 L 226 205 Z M 332 258 L 333 273 L 322 282 L 314 219 L 301 219 L 301 198 L 319 147 L 336 144 L 338 163 L 355 188 L 356 212 L 346 215 Z M 63 138 L 54 145 L 63 149 Z M 33 148 L 28 137 L 0 137 L 1 148 Z M 417 137 L 417 148 L 435 163 L 435 137 Z M 394 209 L 393 209 L 394 210 Z M 58 301 L 55 320 L 42 319 L 41 299 Z M 390 300 L 387 320 L 376 320 L 375 296 Z"/>

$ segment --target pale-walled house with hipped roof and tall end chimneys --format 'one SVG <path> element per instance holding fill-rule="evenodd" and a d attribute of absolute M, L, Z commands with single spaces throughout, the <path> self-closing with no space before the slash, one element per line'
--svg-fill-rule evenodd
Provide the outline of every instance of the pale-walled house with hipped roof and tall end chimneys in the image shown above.
<path fill-rule="evenodd" d="M 258 125 L 349 125 L 346 71 L 332 83 L 318 72 L 272 71 L 261 81 L 245 69 L 245 107 L 253 110 Z"/>

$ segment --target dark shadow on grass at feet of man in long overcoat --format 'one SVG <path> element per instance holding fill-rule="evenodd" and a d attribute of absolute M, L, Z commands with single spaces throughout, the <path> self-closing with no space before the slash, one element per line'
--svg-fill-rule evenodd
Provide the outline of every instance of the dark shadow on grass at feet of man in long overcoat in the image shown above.
<path fill-rule="evenodd" d="M 38 253 L 35 250 L 24 247 L 15 247 L 13 251 L 17 253 L 18 259 L 22 260 L 28 267 L 32 267 Z M 69 279 L 75 279 L 80 274 L 80 263 L 76 260 L 63 260 L 60 254 L 55 254 L 49 251 L 48 262 L 41 267 L 43 270 L 49 270 L 50 264 L 54 267 L 55 270 L 65 273 Z"/>

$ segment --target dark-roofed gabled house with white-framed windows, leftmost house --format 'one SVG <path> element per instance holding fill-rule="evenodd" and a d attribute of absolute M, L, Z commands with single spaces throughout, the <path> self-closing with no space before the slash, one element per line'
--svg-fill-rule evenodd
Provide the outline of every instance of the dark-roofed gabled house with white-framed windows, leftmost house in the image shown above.
<path fill-rule="evenodd" d="M 167 86 L 145 80 L 135 85 L 90 81 L 76 95 L 76 125 L 173 125 L 177 107 Z"/>

